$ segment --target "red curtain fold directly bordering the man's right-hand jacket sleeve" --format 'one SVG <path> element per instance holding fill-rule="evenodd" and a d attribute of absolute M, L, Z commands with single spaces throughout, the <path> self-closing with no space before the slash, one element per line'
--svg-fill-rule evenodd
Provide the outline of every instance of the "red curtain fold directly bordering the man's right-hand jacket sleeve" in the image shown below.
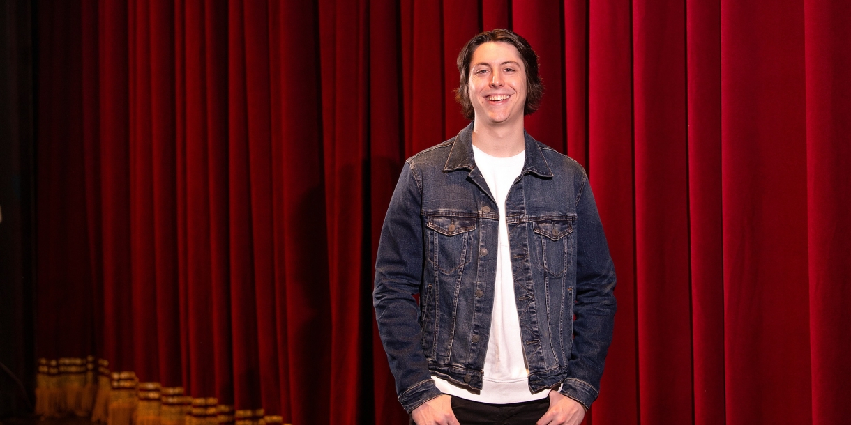
<path fill-rule="evenodd" d="M 618 279 L 594 424 L 638 423 L 639 415 L 630 7 L 628 0 L 588 3 L 587 166 Z"/>

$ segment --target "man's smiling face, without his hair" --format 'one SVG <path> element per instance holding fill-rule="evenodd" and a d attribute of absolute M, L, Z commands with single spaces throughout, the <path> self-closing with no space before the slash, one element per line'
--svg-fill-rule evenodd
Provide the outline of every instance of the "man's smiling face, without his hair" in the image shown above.
<path fill-rule="evenodd" d="M 517 48 L 507 42 L 485 42 L 473 52 L 470 102 L 477 124 L 501 126 L 523 122 L 526 69 Z"/>

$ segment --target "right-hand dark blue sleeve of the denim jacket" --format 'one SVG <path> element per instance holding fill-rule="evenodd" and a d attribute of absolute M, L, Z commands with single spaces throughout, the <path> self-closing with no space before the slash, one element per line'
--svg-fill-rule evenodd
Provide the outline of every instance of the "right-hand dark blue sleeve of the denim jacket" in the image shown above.
<path fill-rule="evenodd" d="M 591 186 L 583 174 L 576 191 L 576 304 L 568 377 L 559 390 L 585 409 L 597 399 L 614 330 L 614 263 Z"/>

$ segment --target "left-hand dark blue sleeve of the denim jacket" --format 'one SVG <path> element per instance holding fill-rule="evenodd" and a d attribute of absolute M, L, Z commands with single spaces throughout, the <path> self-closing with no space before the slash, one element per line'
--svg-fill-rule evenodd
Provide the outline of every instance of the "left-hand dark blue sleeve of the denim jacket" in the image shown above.
<path fill-rule="evenodd" d="M 381 229 L 373 292 L 381 343 L 396 378 L 399 402 L 408 413 L 442 394 L 426 364 L 420 310 L 412 295 L 420 293 L 425 261 L 420 184 L 406 162 Z"/>

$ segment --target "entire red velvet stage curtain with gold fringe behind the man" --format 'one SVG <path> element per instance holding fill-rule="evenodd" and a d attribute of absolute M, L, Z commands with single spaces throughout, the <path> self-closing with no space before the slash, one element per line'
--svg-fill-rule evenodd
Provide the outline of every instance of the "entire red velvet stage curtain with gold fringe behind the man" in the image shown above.
<path fill-rule="evenodd" d="M 851 416 L 851 4 L 82 0 L 37 8 L 37 354 L 284 422 L 404 423 L 371 307 L 462 44 L 540 54 L 529 133 L 618 273 L 586 423 Z"/>

